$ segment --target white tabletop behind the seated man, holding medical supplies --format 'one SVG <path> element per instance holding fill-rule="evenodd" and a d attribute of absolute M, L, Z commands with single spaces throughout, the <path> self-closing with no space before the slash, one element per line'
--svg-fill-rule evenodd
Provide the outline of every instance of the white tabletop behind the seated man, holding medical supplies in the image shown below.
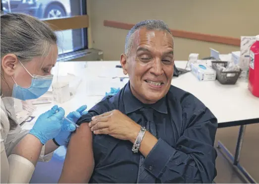
<path fill-rule="evenodd" d="M 119 61 L 71 61 L 58 62 L 53 74 L 75 74 L 82 78 L 76 95 L 69 101 L 57 104 L 37 105 L 34 116 L 39 116 L 49 110 L 53 104 L 63 107 L 68 114 L 81 105 L 86 104 L 88 110 L 98 103 L 109 91 L 110 87 L 122 88 L 127 80 L 121 82 L 119 78 L 125 76 L 122 68 L 115 68 Z M 175 61 L 176 67 L 184 68 L 186 61 Z M 112 79 L 112 77 L 114 79 Z M 259 98 L 248 90 L 248 83 L 237 81 L 235 85 L 222 85 L 215 81 L 199 81 L 191 72 L 179 77 L 173 77 L 172 85 L 188 91 L 200 99 L 218 119 L 218 123 L 259 118 Z M 32 124 L 25 124 L 25 128 Z"/>

